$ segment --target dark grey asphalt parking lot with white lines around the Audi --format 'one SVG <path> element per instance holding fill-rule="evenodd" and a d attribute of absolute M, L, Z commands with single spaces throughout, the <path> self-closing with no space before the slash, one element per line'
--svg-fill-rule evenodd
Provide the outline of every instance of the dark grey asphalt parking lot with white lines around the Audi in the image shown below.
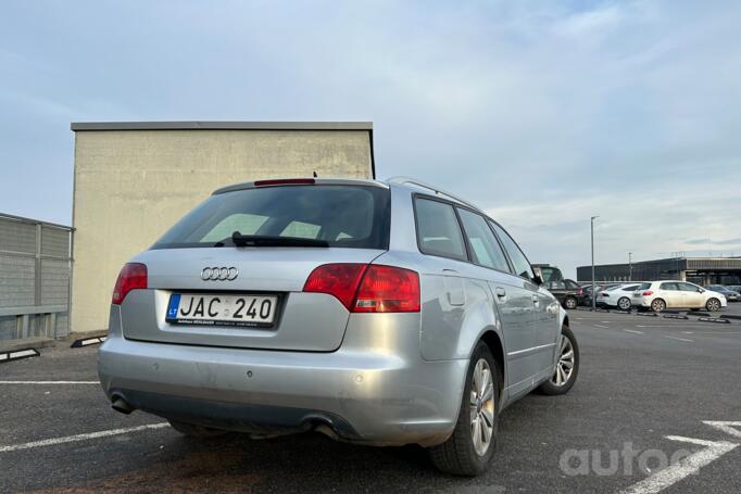
<path fill-rule="evenodd" d="M 741 492 L 741 321 L 570 317 L 578 382 L 506 409 L 480 478 L 438 473 L 417 447 L 186 439 L 158 417 L 111 410 L 96 349 L 59 346 L 0 365 L 0 491 Z"/>

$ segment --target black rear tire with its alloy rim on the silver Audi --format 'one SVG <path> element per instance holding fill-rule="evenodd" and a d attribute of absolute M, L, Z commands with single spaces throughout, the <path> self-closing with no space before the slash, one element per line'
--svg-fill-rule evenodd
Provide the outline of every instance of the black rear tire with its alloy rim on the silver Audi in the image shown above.
<path fill-rule="evenodd" d="M 483 383 L 486 391 L 482 395 L 485 397 L 490 395 L 490 400 L 479 398 L 481 396 L 477 391 L 479 383 L 474 382 L 474 376 L 483 376 L 485 369 L 489 372 L 489 384 Z M 468 363 L 466 384 L 463 389 L 461 409 L 453 434 L 444 443 L 429 448 L 430 459 L 439 470 L 467 477 L 475 477 L 486 471 L 497 446 L 500 379 L 499 367 L 489 346 L 479 341 Z M 472 420 L 472 416 L 475 416 L 474 420 L 478 421 L 478 428 Z M 482 429 L 481 426 L 487 429 Z M 476 430 L 480 431 L 479 438 L 481 439 L 486 436 L 486 431 L 490 431 L 489 441 L 481 441 L 479 445 L 475 445 Z"/>

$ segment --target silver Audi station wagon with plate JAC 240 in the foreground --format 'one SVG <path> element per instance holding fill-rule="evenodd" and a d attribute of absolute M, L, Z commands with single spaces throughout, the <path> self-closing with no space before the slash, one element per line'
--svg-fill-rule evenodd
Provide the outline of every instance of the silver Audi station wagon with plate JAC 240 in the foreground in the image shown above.
<path fill-rule="evenodd" d="M 188 435 L 419 444 L 474 476 L 507 405 L 577 378 L 540 284 L 500 225 L 411 179 L 231 186 L 123 267 L 99 375 Z"/>

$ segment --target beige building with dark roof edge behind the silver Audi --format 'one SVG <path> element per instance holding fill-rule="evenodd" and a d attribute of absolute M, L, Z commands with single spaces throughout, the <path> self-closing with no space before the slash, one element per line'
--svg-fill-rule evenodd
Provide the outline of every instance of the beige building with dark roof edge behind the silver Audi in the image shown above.
<path fill-rule="evenodd" d="M 235 128 L 237 127 L 237 128 Z M 122 265 L 219 187 L 373 176 L 370 124 L 73 124 L 74 332 L 108 329 Z"/>

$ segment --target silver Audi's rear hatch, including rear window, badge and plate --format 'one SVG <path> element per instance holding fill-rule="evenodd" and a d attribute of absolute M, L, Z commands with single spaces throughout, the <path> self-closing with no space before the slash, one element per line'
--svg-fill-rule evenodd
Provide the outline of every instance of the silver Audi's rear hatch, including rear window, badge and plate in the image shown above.
<path fill-rule="evenodd" d="M 133 262 L 147 289 L 121 303 L 124 337 L 140 341 L 328 352 L 349 311 L 303 292 L 318 266 L 369 264 L 388 250 L 389 191 L 306 180 L 225 190 Z"/>

